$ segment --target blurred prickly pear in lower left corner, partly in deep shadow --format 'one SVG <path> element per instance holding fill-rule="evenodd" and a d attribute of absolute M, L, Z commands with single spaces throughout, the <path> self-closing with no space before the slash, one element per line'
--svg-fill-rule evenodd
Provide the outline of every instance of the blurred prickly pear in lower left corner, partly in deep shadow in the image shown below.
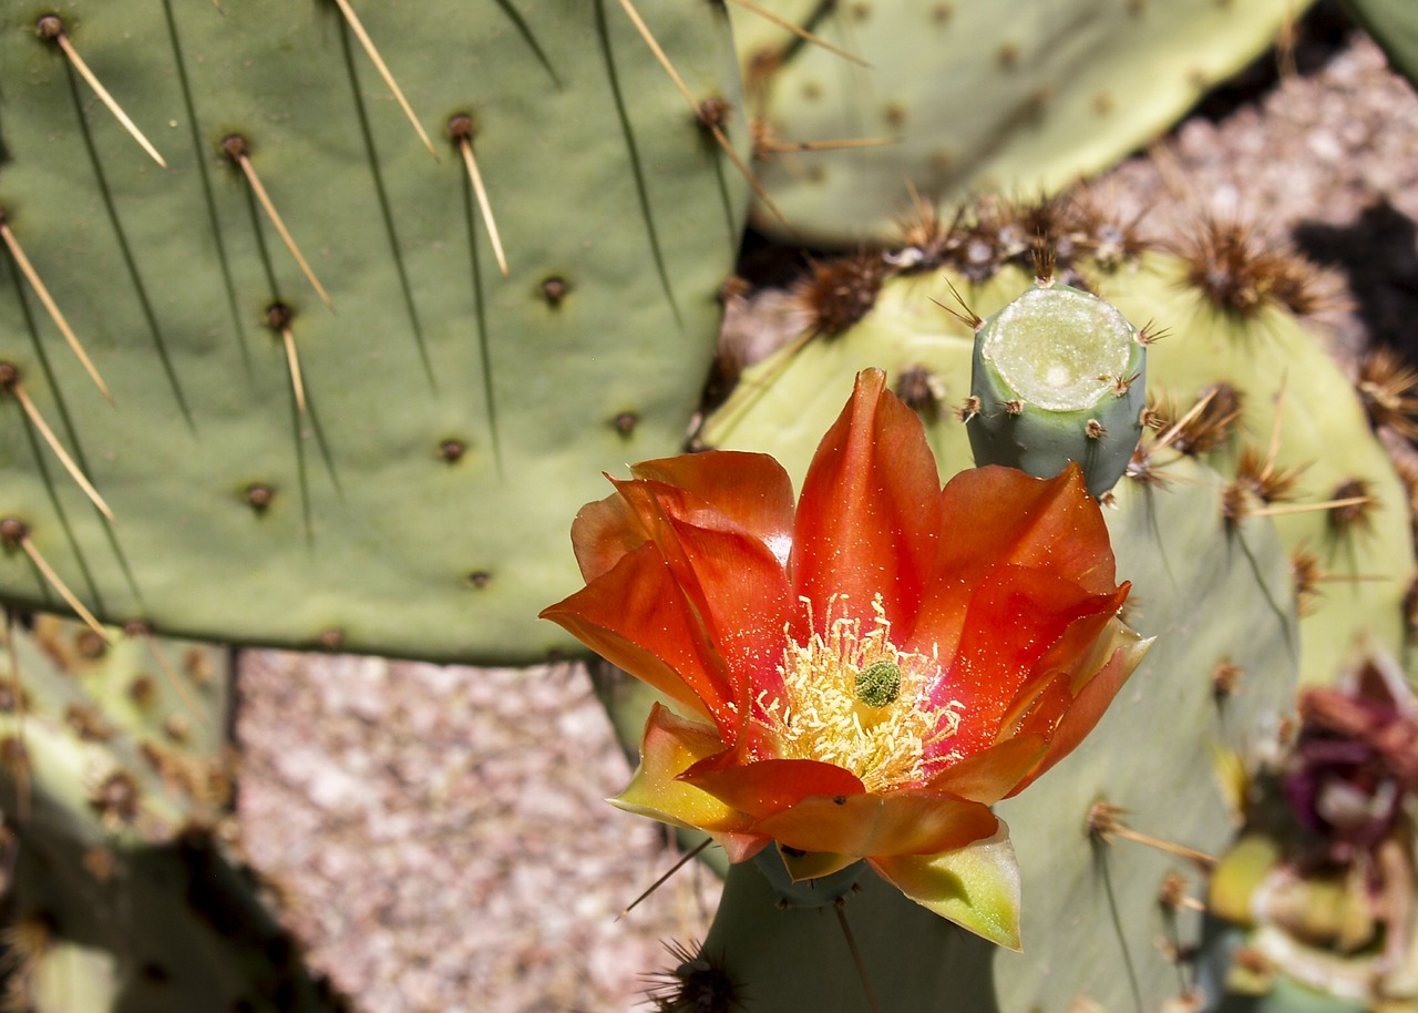
<path fill-rule="evenodd" d="M 218 844 L 234 776 L 224 653 L 106 634 L 40 617 L 0 650 L 9 1002 L 339 1009 Z"/>

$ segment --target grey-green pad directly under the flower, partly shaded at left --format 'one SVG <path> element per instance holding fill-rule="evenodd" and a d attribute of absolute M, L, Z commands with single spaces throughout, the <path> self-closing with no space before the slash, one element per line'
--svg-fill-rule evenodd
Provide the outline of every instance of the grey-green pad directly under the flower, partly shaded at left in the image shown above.
<path fill-rule="evenodd" d="M 1195 902 L 1207 854 L 1235 826 L 1214 756 L 1252 756 L 1273 741 L 1296 684 L 1299 624 L 1271 519 L 1229 521 L 1225 481 L 1204 465 L 1180 460 L 1170 478 L 1124 480 L 1106 515 L 1119 576 L 1133 582 L 1127 621 L 1157 641 L 1046 785 L 997 807 L 1024 875 L 1024 952 L 997 949 L 991 963 L 991 951 L 868 881 L 842 908 L 864 985 L 825 909 L 777 912 L 759 871 L 735 867 L 700 951 L 726 980 L 766 1009 L 844 1013 L 866 1007 L 868 989 L 882 1013 L 1157 1009 L 1178 992 L 1176 953 L 1200 936 L 1183 904 Z M 903 939 L 930 958 L 902 951 Z"/>

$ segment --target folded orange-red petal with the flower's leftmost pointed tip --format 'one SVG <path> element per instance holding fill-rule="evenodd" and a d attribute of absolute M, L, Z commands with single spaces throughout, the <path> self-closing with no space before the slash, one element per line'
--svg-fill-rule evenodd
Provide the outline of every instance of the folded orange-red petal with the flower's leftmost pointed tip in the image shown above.
<path fill-rule="evenodd" d="M 654 545 L 642 545 L 594 583 L 543 609 L 542 619 L 671 699 L 712 716 L 732 741 L 739 725 L 735 687 Z"/>

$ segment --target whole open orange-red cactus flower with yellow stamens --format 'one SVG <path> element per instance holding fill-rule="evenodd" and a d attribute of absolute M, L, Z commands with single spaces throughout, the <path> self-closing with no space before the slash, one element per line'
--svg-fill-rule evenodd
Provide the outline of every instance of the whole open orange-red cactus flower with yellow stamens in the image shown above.
<path fill-rule="evenodd" d="M 916 414 L 866 370 L 797 508 L 771 457 L 631 468 L 571 525 L 586 587 L 550 619 L 659 690 L 615 804 L 794 878 L 865 858 L 1018 946 L 1018 868 L 990 810 L 1093 728 L 1147 643 L 1076 467 L 942 489 Z"/>

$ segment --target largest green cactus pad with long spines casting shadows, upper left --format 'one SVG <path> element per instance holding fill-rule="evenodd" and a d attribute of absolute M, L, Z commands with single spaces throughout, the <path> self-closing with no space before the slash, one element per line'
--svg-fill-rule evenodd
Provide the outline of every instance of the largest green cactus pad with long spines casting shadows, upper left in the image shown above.
<path fill-rule="evenodd" d="M 703 109 L 614 0 L 7 6 L 0 600 L 569 646 L 566 518 L 678 450 L 743 218 L 726 16 L 645 14 Z"/>

